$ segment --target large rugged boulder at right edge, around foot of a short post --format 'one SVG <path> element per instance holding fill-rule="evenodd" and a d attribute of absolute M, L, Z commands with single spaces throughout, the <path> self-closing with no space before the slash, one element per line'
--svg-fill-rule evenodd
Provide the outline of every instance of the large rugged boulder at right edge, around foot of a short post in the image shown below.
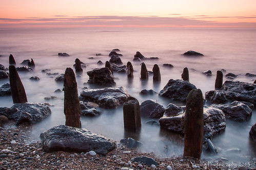
<path fill-rule="evenodd" d="M 225 81 L 221 90 L 207 91 L 205 99 L 212 103 L 225 103 L 227 100 L 256 104 L 256 84 Z"/>

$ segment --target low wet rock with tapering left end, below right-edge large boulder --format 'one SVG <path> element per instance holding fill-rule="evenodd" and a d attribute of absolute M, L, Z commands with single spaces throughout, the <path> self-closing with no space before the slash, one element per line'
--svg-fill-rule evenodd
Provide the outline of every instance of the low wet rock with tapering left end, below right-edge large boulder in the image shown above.
<path fill-rule="evenodd" d="M 231 103 L 230 105 L 213 104 L 211 107 L 221 109 L 225 113 L 226 117 L 239 122 L 248 120 L 252 114 L 252 110 L 249 108 L 249 106 L 237 101 Z"/>

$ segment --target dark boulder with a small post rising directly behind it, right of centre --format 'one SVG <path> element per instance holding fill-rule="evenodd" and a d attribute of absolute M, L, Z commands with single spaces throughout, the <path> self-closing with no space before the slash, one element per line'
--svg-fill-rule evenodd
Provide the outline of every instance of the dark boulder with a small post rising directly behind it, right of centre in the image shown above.
<path fill-rule="evenodd" d="M 164 89 L 159 92 L 159 95 L 186 102 L 188 93 L 192 89 L 196 89 L 196 87 L 188 81 L 170 79 Z"/>

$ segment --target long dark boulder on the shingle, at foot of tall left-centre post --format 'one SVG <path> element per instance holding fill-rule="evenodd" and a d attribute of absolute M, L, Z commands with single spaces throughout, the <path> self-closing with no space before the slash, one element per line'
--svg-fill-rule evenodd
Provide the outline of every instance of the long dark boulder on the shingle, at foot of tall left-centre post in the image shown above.
<path fill-rule="evenodd" d="M 46 152 L 89 152 L 106 155 L 116 144 L 111 139 L 86 129 L 56 126 L 41 133 L 43 149 Z"/>

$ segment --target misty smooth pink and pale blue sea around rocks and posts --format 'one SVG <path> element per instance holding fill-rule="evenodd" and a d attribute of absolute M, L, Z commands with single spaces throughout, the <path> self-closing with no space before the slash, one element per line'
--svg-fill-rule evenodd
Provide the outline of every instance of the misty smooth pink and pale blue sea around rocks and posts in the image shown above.
<path fill-rule="evenodd" d="M 28 72 L 18 72 L 25 87 L 28 102 L 50 103 L 52 114 L 42 122 L 32 126 L 32 137 L 40 140 L 40 133 L 57 125 L 65 124 L 63 111 L 64 93 L 54 93 L 62 89 L 63 83 L 54 81 L 56 76 L 48 76 L 41 72 L 62 74 L 67 67 L 73 68 L 76 58 L 86 64 L 84 73 L 76 77 L 78 94 L 83 87 L 96 88 L 94 85 L 84 85 L 89 79 L 87 71 L 104 67 L 110 59 L 108 54 L 114 48 L 119 48 L 123 56 L 123 65 L 131 61 L 134 68 L 134 79 L 127 80 L 126 74 L 114 72 L 116 86 L 123 86 L 140 103 L 145 100 L 156 100 L 166 107 L 169 103 L 185 105 L 185 103 L 162 98 L 158 94 L 140 95 L 143 89 L 153 89 L 159 92 L 169 79 L 181 79 L 184 67 L 188 67 L 190 82 L 200 88 L 203 95 L 214 89 L 216 71 L 227 70 L 239 75 L 235 80 L 253 83 L 255 78 L 246 77 L 250 72 L 256 74 L 256 30 L 252 29 L 188 29 L 188 28 L 67 28 L 67 29 L 0 29 L 0 64 L 9 66 L 9 55 L 16 60 L 16 66 L 22 66 L 25 59 L 33 59 L 35 69 Z M 204 57 L 184 57 L 181 54 L 193 50 L 204 54 Z M 145 60 L 147 69 L 152 70 L 154 64 L 160 67 L 162 81 L 153 83 L 152 76 L 148 81 L 140 80 L 141 62 L 132 61 L 139 51 L 145 57 L 158 57 L 159 60 Z M 58 53 L 68 53 L 69 57 L 58 57 Z M 101 56 L 96 56 L 101 53 Z M 93 57 L 93 58 L 92 58 Z M 91 59 L 92 58 L 92 59 Z M 96 64 L 101 60 L 104 65 Z M 173 68 L 163 67 L 164 63 L 172 64 Z M 207 77 L 203 71 L 210 69 L 212 76 Z M 225 73 L 224 73 L 225 75 Z M 37 76 L 40 81 L 29 78 Z M 224 77 L 224 82 L 225 82 Z M 0 80 L 0 86 L 9 80 Z M 51 95 L 58 99 L 46 101 Z M 12 105 L 11 96 L 0 97 L 0 107 Z M 97 117 L 81 116 L 82 128 L 107 136 L 113 140 L 127 138 L 124 132 L 123 107 L 116 109 L 97 108 L 102 114 Z M 230 161 L 246 161 L 255 157 L 255 143 L 249 137 L 249 130 L 256 122 L 255 109 L 249 120 L 243 123 L 227 119 L 226 130 L 213 136 L 212 142 L 218 147 L 218 155 L 208 155 L 203 152 L 201 158 L 228 158 Z M 159 126 L 144 124 L 147 118 L 142 118 L 140 133 L 132 137 L 143 143 L 142 151 L 154 152 L 157 155 L 170 157 L 183 154 L 184 136 L 173 133 Z M 157 120 L 157 119 L 156 119 Z M 168 150 L 166 148 L 168 147 Z M 241 153 L 227 155 L 224 151 L 239 148 Z"/>

